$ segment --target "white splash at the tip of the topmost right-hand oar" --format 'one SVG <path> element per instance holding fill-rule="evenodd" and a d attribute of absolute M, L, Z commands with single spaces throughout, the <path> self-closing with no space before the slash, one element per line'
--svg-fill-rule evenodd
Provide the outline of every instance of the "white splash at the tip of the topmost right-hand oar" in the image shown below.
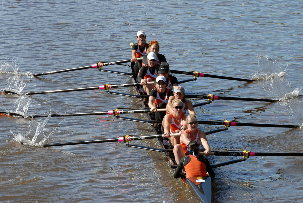
<path fill-rule="evenodd" d="M 262 69 L 262 73 L 253 76 L 254 80 L 270 80 L 272 78 L 279 78 L 285 76 L 287 67 L 282 70 L 278 65 L 277 60 L 269 59 L 267 56 L 258 56 L 258 64 Z"/>

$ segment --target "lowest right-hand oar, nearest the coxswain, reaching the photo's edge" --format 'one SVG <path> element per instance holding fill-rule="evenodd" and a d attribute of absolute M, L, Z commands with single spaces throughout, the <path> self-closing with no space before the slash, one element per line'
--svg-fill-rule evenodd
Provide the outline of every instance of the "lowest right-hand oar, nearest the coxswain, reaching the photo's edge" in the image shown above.
<path fill-rule="evenodd" d="M 200 155 L 205 155 L 204 152 L 200 152 Z M 254 157 L 254 156 L 303 156 L 303 153 L 283 153 L 283 152 L 211 152 L 210 155 L 214 156 L 243 156 L 243 157 Z"/>

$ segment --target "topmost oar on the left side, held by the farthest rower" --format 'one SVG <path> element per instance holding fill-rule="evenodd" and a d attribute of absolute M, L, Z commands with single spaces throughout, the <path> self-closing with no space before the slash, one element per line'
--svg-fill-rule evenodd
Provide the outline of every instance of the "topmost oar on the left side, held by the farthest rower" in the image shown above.
<path fill-rule="evenodd" d="M 142 60 L 142 57 L 137 58 L 137 60 Z M 50 75 L 50 74 L 55 74 L 55 73 L 63 73 L 63 72 L 89 69 L 89 68 L 102 68 L 102 66 L 110 66 L 110 65 L 120 64 L 120 63 L 128 63 L 128 62 L 131 62 L 131 61 L 132 61 L 132 59 L 126 59 L 126 60 L 115 61 L 115 62 L 110 62 L 110 63 L 99 62 L 99 63 L 96 63 L 96 64 L 92 64 L 90 66 L 83 66 L 83 67 L 78 67 L 78 68 L 70 68 L 70 69 L 57 70 L 57 71 L 50 71 L 50 72 L 46 72 L 46 73 L 38 73 L 38 74 L 33 74 L 31 76 L 43 76 L 43 75 Z"/>

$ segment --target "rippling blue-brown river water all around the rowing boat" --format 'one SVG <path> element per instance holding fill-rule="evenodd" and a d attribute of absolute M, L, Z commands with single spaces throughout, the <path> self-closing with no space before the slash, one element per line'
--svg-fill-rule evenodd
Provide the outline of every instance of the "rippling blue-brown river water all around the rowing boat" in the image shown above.
<path fill-rule="evenodd" d="M 303 123 L 301 1 L 11 1 L 0 6 L 0 89 L 32 92 L 129 83 L 95 69 L 43 73 L 131 58 L 129 42 L 144 30 L 158 40 L 171 69 L 255 79 L 198 78 L 187 93 L 276 98 L 280 102 L 213 101 L 199 120 Z M 128 72 L 126 66 L 108 66 Z M 188 76 L 176 75 L 179 80 Z M 132 88 L 115 91 L 132 92 Z M 295 97 L 290 99 L 291 96 Z M 199 100 L 193 100 L 198 103 Z M 25 115 L 141 108 L 135 98 L 102 91 L 0 95 L 1 111 Z M 146 119 L 142 115 L 129 117 Z M 163 154 L 122 143 L 42 148 L 58 143 L 153 134 L 148 124 L 112 116 L 0 117 L 2 202 L 195 202 Z M 200 125 L 205 131 L 217 126 Z M 208 136 L 212 149 L 301 152 L 302 130 L 230 127 Z M 23 137 L 21 145 L 15 139 Z M 9 141 L 9 142 L 8 142 Z M 134 144 L 159 147 L 156 140 Z M 209 157 L 212 164 L 235 159 Z M 213 202 L 301 202 L 301 157 L 250 157 L 215 169 Z"/>

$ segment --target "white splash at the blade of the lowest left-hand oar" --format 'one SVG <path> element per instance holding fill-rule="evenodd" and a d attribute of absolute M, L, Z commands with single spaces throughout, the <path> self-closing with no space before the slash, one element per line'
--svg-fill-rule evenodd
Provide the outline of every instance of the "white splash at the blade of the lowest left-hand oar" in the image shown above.
<path fill-rule="evenodd" d="M 64 121 L 62 120 L 51 132 L 45 132 L 46 124 L 49 120 L 50 116 L 48 116 L 44 121 L 39 122 L 36 120 L 31 121 L 28 132 L 22 134 L 18 132 L 15 134 L 14 132 L 10 131 L 14 136 L 12 142 L 18 142 L 21 144 L 28 144 L 32 146 L 41 146 L 48 137 L 55 134 L 60 124 Z M 31 137 L 31 138 L 30 138 Z"/>

